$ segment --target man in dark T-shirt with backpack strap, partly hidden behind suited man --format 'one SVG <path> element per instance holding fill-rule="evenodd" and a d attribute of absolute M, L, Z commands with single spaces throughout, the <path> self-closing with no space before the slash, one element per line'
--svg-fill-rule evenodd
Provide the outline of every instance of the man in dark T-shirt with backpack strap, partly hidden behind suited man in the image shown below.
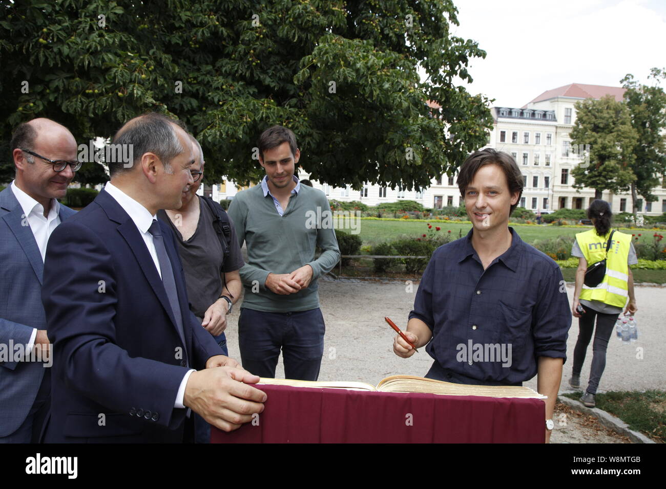
<path fill-rule="evenodd" d="M 196 194 L 203 180 L 205 162 L 201 145 L 194 136 L 188 136 L 194 155 L 190 170 L 194 184 L 182 193 L 180 208 L 159 210 L 157 217 L 170 224 L 176 235 L 192 312 L 224 355 L 228 355 L 224 335 L 226 317 L 240 297 L 242 283 L 238 270 L 245 263 L 234 225 L 222 206 Z M 216 222 L 218 216 L 220 220 Z M 194 417 L 194 430 L 196 443 L 210 442 L 210 424 L 198 414 Z"/>

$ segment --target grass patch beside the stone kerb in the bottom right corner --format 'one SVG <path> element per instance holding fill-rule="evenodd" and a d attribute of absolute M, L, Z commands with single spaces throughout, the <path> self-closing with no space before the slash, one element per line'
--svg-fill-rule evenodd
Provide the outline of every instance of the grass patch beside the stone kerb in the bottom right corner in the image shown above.
<path fill-rule="evenodd" d="M 578 400 L 582 392 L 565 394 Z M 639 431 L 657 442 L 666 443 L 666 392 L 664 391 L 611 391 L 597 394 L 599 409 L 617 416 L 629 428 Z"/>

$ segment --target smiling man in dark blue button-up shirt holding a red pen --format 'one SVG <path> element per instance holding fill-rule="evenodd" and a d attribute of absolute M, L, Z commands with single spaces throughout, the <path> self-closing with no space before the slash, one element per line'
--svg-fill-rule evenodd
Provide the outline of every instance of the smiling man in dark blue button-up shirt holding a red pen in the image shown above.
<path fill-rule="evenodd" d="M 537 374 L 550 421 L 571 326 L 562 273 L 508 226 L 523 190 L 511 156 L 475 152 L 460 168 L 458 186 L 472 230 L 433 253 L 406 335 L 416 348 L 428 345 L 430 379 L 522 385 Z M 398 336 L 394 352 L 406 358 L 414 349 Z"/>

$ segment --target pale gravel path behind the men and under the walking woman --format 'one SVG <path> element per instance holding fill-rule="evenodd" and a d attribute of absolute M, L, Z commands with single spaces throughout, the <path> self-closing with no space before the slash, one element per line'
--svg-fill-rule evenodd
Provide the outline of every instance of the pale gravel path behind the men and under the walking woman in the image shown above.
<path fill-rule="evenodd" d="M 414 304 L 418 283 L 370 282 L 342 280 L 330 277 L 320 280 L 320 300 L 326 337 L 324 358 L 319 376 L 321 381 L 364 381 L 376 385 L 389 375 L 424 376 L 432 359 L 425 349 L 420 349 L 410 359 L 394 355 L 392 342 L 394 332 L 384 322 L 390 317 L 401 329 Z M 573 297 L 573 286 L 567 287 L 569 301 Z M 661 305 L 666 303 L 665 287 L 636 286 L 639 311 L 637 321 L 639 337 L 636 343 L 623 345 L 613 338 L 607 351 L 606 369 L 599 392 L 643 391 L 666 389 L 666 319 Z M 229 318 L 226 334 L 229 354 L 240 360 L 237 341 L 238 307 Z M 571 375 L 573 347 L 578 334 L 577 319 L 569 330 L 567 341 L 568 359 L 564 366 L 561 393 L 569 392 L 567 381 Z M 614 333 L 613 333 L 614 335 Z M 581 373 L 581 383 L 587 381 L 592 355 L 592 344 Z M 284 377 L 282 358 L 278 363 L 276 377 Z M 525 386 L 536 389 L 536 377 Z M 557 416 L 565 415 L 565 424 L 557 422 Z M 556 428 L 553 442 L 624 442 L 625 438 L 613 436 L 605 428 L 597 429 L 598 423 L 571 414 L 569 408 L 559 405 L 555 416 Z M 603 436 L 602 436 L 603 435 Z"/>

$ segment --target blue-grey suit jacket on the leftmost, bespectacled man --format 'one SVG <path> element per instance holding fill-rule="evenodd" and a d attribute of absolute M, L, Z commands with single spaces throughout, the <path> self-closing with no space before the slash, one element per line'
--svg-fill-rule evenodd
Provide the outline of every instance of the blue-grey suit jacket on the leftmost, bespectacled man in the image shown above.
<path fill-rule="evenodd" d="M 63 205 L 61 222 L 76 214 Z M 0 344 L 26 345 L 33 329 L 46 329 L 41 303 L 44 263 L 23 208 L 11 191 L 0 192 Z M 11 352 L 9 352 L 11 353 Z M 25 421 L 44 377 L 44 363 L 0 359 L 0 437 Z"/>

